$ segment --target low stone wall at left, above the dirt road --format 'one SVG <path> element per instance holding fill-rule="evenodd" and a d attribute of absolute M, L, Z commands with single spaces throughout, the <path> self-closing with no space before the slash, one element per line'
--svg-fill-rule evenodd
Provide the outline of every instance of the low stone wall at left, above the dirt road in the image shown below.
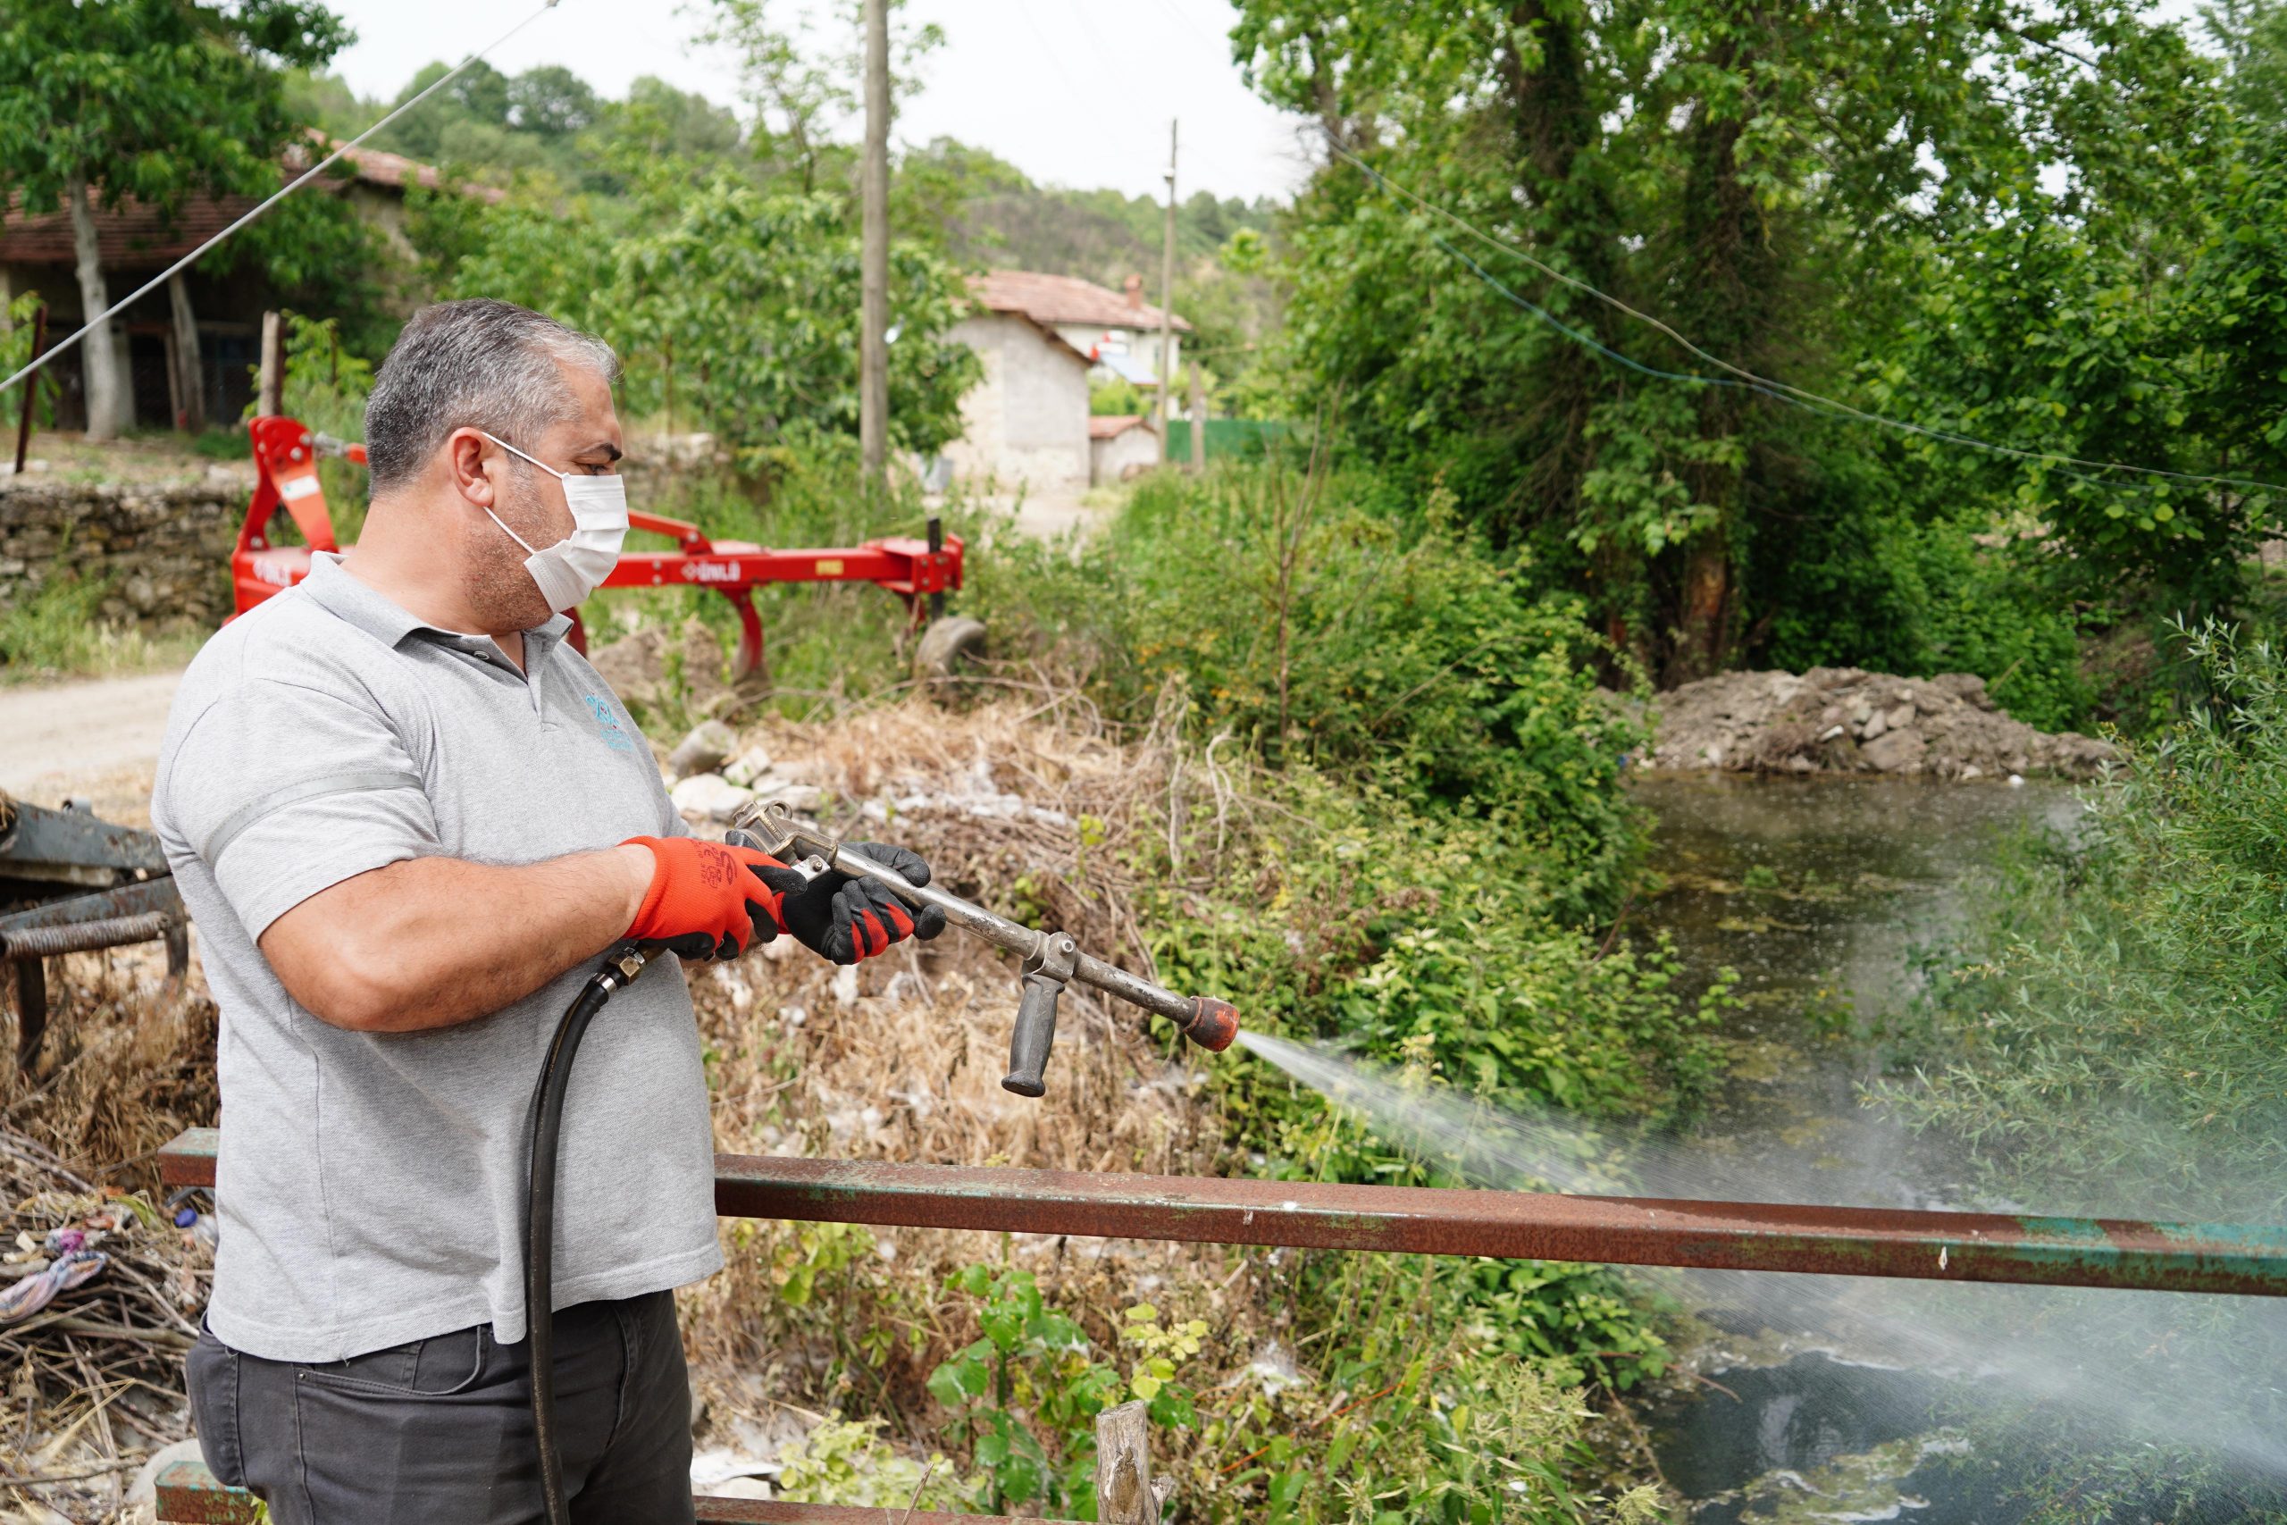
<path fill-rule="evenodd" d="M 240 473 L 190 482 L 0 480 L 0 608 L 57 574 L 101 578 L 105 620 L 153 633 L 215 629 L 231 613 Z"/>

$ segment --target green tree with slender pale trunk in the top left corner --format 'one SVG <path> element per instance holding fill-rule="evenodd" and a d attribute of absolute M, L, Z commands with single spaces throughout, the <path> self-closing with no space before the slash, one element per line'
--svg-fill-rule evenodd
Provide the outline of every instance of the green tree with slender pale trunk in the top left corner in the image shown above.
<path fill-rule="evenodd" d="M 284 71 L 350 39 L 313 0 L 14 0 L 0 14 L 0 181 L 25 210 L 69 213 L 87 318 L 110 306 L 94 208 L 133 197 L 172 215 L 194 192 L 274 190 L 300 133 Z M 110 325 L 80 352 L 87 434 L 112 439 L 126 375 Z"/>

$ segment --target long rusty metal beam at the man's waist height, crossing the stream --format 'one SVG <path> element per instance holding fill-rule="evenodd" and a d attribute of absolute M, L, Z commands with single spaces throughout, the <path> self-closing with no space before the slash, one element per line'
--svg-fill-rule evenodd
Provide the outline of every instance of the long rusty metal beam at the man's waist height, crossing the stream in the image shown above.
<path fill-rule="evenodd" d="M 160 1152 L 213 1182 L 215 1136 Z M 716 1155 L 716 1212 L 1095 1239 L 2287 1296 L 2287 1228 Z"/>

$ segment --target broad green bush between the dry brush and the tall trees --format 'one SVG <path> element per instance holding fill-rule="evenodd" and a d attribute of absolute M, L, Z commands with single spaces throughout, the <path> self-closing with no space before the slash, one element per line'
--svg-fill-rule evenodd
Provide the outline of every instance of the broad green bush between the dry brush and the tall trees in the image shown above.
<path fill-rule="evenodd" d="M 1493 825 L 1567 919 L 1610 912 L 1640 846 L 1621 789 L 1640 729 L 1596 690 L 1580 604 L 1537 597 L 1432 498 L 1407 524 L 1370 478 L 1226 466 L 1146 478 L 1109 530 L 1015 553 L 972 608 L 1059 649 L 1107 713 L 1171 681 L 1201 736 Z M 995 558 L 1013 546 L 995 544 Z"/>

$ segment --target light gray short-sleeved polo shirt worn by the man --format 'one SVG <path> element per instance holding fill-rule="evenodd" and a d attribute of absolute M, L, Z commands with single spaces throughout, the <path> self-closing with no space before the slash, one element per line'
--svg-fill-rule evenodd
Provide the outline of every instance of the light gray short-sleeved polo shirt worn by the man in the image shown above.
<path fill-rule="evenodd" d="M 208 1322 L 233 1349 L 338 1360 L 471 1324 L 524 1338 L 533 1079 L 592 969 L 460 1027 L 352 1033 L 286 995 L 256 940 L 407 857 L 526 864 L 684 832 L 567 626 L 524 633 L 526 679 L 489 638 L 425 626 L 320 556 L 183 674 L 151 821 L 222 1008 Z M 723 1264 L 707 1079 L 672 958 L 588 1029 L 558 1193 L 558 1308 Z"/>

